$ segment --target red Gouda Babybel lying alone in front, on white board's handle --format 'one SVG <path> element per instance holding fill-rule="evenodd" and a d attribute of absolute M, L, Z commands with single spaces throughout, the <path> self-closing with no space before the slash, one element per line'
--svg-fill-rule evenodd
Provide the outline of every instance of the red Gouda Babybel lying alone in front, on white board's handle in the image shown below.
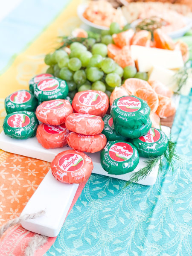
<path fill-rule="evenodd" d="M 63 183 L 82 183 L 91 175 L 93 163 L 83 152 L 66 150 L 51 162 L 52 175 Z"/>

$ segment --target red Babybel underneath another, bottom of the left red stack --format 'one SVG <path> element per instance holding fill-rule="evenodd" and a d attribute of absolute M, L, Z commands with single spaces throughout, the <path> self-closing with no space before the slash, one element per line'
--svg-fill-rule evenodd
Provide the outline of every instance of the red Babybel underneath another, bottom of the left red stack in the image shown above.
<path fill-rule="evenodd" d="M 37 128 L 37 140 L 44 148 L 61 148 L 67 145 L 69 131 L 65 124 L 47 125 L 41 123 Z"/>

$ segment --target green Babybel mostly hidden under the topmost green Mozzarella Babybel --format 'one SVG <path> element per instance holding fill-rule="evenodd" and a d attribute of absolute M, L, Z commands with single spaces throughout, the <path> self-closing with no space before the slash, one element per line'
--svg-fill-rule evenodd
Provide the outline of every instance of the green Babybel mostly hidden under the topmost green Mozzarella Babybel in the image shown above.
<path fill-rule="evenodd" d="M 151 128 L 151 119 L 149 118 L 146 125 L 141 125 L 140 128 L 127 128 L 116 123 L 114 123 L 114 126 L 116 131 L 122 136 L 130 139 L 136 139 L 148 133 L 148 130 Z"/>

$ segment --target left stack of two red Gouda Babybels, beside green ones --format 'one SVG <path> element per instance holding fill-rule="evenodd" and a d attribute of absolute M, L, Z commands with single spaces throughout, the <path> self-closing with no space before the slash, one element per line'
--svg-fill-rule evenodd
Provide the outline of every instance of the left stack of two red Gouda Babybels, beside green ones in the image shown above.
<path fill-rule="evenodd" d="M 73 113 L 70 102 L 53 99 L 42 102 L 36 109 L 36 116 L 42 123 L 37 128 L 37 140 L 44 148 L 59 148 L 67 145 L 68 129 L 65 120 Z"/>

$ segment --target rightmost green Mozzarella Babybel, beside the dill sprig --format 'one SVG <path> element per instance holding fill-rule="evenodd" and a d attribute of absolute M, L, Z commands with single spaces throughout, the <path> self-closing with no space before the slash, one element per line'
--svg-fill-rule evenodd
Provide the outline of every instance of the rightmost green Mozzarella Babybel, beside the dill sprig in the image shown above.
<path fill-rule="evenodd" d="M 131 140 L 131 143 L 137 148 L 141 157 L 158 157 L 167 150 L 168 138 L 163 131 L 150 128 L 145 136 Z"/>

